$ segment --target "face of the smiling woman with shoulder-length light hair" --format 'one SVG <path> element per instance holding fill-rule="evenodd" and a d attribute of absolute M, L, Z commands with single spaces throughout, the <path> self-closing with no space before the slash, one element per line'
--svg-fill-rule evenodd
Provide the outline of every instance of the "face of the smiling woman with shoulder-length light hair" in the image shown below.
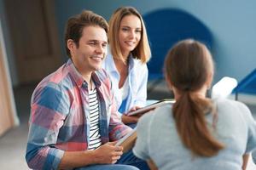
<path fill-rule="evenodd" d="M 126 15 L 120 23 L 119 27 L 119 45 L 122 54 L 127 57 L 142 37 L 141 20 L 133 14 Z"/>

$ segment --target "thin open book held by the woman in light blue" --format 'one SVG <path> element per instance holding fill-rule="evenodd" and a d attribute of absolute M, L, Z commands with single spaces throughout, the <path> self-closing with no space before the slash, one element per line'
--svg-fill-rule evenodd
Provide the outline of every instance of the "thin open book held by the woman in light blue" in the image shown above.
<path fill-rule="evenodd" d="M 161 106 L 161 105 L 166 105 L 166 104 L 173 104 L 175 102 L 175 99 L 161 99 L 160 101 L 151 104 L 151 105 L 147 105 L 143 108 L 140 108 L 136 111 L 131 111 L 127 114 L 127 116 L 133 116 L 133 115 L 137 115 L 137 114 L 143 114 L 146 113 L 148 111 L 154 110 L 155 108 Z"/>

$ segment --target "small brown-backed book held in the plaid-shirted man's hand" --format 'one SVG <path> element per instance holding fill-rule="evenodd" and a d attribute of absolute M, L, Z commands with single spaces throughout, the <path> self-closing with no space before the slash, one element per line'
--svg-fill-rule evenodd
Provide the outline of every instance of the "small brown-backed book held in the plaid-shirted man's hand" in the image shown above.
<path fill-rule="evenodd" d="M 135 140 L 137 139 L 137 127 L 131 130 L 131 132 L 127 133 L 122 139 L 119 139 L 119 141 L 115 144 L 117 146 L 123 146 L 124 150 L 123 152 L 127 152 L 128 150 L 131 150 L 133 145 L 135 144 Z"/>

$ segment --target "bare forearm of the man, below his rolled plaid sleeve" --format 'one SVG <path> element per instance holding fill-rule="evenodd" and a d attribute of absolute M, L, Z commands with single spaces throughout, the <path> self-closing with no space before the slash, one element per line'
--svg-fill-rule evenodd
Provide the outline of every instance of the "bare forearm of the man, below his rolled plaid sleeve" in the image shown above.
<path fill-rule="evenodd" d="M 95 150 L 65 151 L 58 169 L 70 169 L 97 164 Z"/>

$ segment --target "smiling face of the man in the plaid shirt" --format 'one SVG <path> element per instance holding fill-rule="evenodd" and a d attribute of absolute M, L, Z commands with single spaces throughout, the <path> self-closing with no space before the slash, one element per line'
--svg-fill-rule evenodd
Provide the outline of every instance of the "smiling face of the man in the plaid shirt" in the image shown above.
<path fill-rule="evenodd" d="M 91 74 L 92 71 L 102 68 L 102 59 L 107 54 L 108 45 L 106 31 L 102 27 L 84 27 L 82 37 L 79 40 L 79 48 L 73 41 L 70 43 L 73 63 L 82 75 Z"/>

